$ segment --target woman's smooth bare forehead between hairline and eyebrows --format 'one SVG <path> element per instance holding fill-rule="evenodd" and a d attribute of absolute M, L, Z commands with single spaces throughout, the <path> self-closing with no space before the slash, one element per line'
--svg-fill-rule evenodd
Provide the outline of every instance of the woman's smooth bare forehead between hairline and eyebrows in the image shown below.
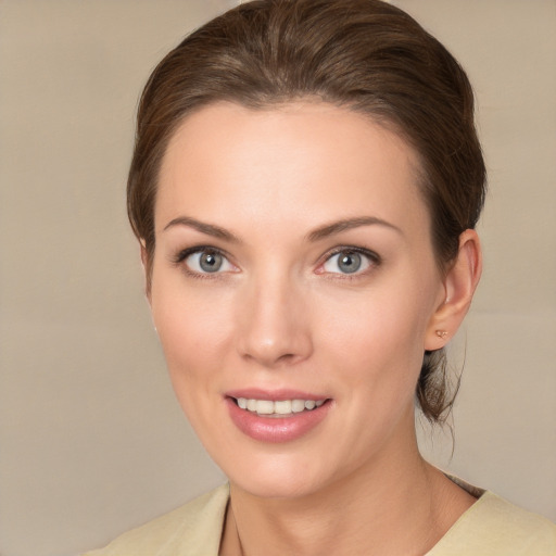
<path fill-rule="evenodd" d="M 212 104 L 191 114 L 169 141 L 156 226 L 180 211 L 225 224 L 231 206 L 244 222 L 267 226 L 298 213 L 307 224 L 362 212 L 399 218 L 409 205 L 422 219 L 418 167 L 399 135 L 344 108 Z"/>

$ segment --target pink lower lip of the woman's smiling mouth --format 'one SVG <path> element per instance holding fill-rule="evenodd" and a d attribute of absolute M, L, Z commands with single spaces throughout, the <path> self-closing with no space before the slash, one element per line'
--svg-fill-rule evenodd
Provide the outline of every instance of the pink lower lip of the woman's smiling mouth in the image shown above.
<path fill-rule="evenodd" d="M 328 414 L 330 400 L 320 407 L 292 413 L 288 417 L 262 417 L 247 409 L 241 409 L 235 400 L 227 397 L 231 420 L 238 429 L 260 442 L 290 442 L 312 431 Z"/>

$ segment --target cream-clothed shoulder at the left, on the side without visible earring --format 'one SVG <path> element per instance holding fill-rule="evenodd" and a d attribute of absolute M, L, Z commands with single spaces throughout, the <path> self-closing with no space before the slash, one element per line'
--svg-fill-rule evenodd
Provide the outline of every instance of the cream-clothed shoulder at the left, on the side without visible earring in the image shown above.
<path fill-rule="evenodd" d="M 84 556 L 216 556 L 228 497 L 225 484 Z"/>

